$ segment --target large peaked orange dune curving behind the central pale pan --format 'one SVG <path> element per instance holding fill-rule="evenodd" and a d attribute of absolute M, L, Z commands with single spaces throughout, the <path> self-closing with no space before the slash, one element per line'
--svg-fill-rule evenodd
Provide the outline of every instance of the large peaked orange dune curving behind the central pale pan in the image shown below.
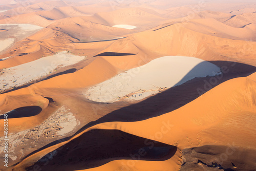
<path fill-rule="evenodd" d="M 131 60 L 133 59 L 133 57 L 131 58 L 131 56 L 121 57 L 122 60 L 130 61 L 129 65 L 122 67 L 122 69 L 125 68 L 126 70 L 134 68 L 133 65 L 135 63 L 139 63 L 138 65 L 142 65 L 143 62 L 149 62 L 154 58 L 165 55 L 193 56 L 204 60 L 230 60 L 239 61 L 241 63 L 248 63 L 254 66 L 256 65 L 253 58 L 253 56 L 255 55 L 255 52 L 253 51 L 254 47 L 256 46 L 255 42 L 223 39 L 216 36 L 209 36 L 206 34 L 186 29 L 181 24 L 165 27 L 157 31 L 146 31 L 136 33 L 127 38 L 115 40 L 113 42 L 113 44 L 109 45 L 108 47 L 105 47 L 106 50 L 101 51 L 100 53 L 122 52 L 137 54 L 134 60 Z M 94 43 L 91 43 L 91 45 L 93 44 Z M 83 44 L 79 45 L 80 47 L 83 47 Z M 50 45 L 48 47 L 50 47 Z M 78 47 L 76 47 L 76 49 L 78 49 Z M 138 51 L 138 49 L 141 51 Z M 237 52 L 237 49 L 241 49 L 241 52 Z M 143 61 L 143 59 L 146 60 Z M 141 60 L 143 62 L 139 62 Z M 40 87 L 87 87 L 91 84 L 97 83 L 98 81 L 108 79 L 114 76 L 115 74 L 121 72 L 120 70 L 116 70 L 115 67 L 114 70 L 109 69 L 108 67 L 103 67 L 104 72 L 107 73 L 107 76 L 102 77 L 103 75 L 100 74 L 99 71 L 95 71 L 95 69 L 93 69 L 94 66 L 122 66 L 120 62 L 117 65 L 115 60 L 113 60 L 112 62 L 113 65 L 109 62 L 106 62 L 106 64 L 103 64 L 102 62 L 105 63 L 106 61 L 102 59 L 95 60 L 88 67 L 83 68 L 75 73 L 43 81 L 40 84 Z M 88 74 L 86 74 L 87 72 L 91 73 L 91 77 L 89 77 Z M 97 74 L 100 74 L 101 76 Z M 86 78 L 80 77 L 80 75 L 86 75 Z M 95 76 L 95 79 L 92 82 L 89 81 L 92 80 L 93 76 Z"/>

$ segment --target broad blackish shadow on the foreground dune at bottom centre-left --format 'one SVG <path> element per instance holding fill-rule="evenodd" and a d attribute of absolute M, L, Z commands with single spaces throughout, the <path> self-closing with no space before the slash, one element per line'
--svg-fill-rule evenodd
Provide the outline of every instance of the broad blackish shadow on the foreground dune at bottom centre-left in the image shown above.
<path fill-rule="evenodd" d="M 35 165 L 42 170 L 71 171 L 98 167 L 121 159 L 164 161 L 172 158 L 176 151 L 176 146 L 119 130 L 92 130 L 42 157 Z"/>

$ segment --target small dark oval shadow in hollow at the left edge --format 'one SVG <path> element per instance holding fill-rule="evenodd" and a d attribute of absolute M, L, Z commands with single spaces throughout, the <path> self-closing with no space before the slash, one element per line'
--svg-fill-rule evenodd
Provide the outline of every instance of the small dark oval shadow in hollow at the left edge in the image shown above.
<path fill-rule="evenodd" d="M 24 118 L 38 115 L 42 109 L 39 106 L 26 106 L 22 108 L 14 109 L 8 112 L 8 119 L 11 118 Z M 0 119 L 5 119 L 4 115 L 0 116 Z"/>

